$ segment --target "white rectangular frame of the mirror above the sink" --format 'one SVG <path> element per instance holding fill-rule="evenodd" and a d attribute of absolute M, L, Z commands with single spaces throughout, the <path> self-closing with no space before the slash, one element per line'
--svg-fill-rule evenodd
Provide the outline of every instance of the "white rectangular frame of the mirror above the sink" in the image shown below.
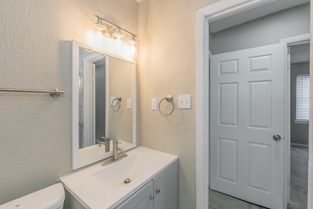
<path fill-rule="evenodd" d="M 133 64 L 133 143 L 123 147 L 123 149 L 129 150 L 136 146 L 136 61 L 107 50 L 92 47 L 77 40 L 72 40 L 72 170 L 112 156 L 112 151 L 110 151 L 79 162 L 79 47 Z"/>

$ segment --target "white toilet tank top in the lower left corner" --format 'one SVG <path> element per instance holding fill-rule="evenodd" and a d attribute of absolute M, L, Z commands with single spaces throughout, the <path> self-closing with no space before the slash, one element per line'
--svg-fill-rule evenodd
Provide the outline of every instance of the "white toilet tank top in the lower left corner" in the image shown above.
<path fill-rule="evenodd" d="M 0 209 L 63 209 L 64 200 L 63 185 L 58 183 L 0 205 Z"/>

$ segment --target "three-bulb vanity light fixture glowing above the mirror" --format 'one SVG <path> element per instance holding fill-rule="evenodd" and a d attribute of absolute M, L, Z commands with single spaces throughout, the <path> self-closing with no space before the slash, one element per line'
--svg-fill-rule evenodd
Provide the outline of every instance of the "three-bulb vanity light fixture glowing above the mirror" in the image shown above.
<path fill-rule="evenodd" d="M 138 42 L 135 39 L 136 35 L 97 15 L 95 18 L 97 18 L 97 23 L 93 25 L 95 28 L 93 46 L 100 48 L 106 47 L 107 50 L 112 50 L 123 56 L 137 57 Z M 99 32 L 101 32 L 104 38 L 99 38 Z M 124 42 L 124 38 L 128 41 Z"/>

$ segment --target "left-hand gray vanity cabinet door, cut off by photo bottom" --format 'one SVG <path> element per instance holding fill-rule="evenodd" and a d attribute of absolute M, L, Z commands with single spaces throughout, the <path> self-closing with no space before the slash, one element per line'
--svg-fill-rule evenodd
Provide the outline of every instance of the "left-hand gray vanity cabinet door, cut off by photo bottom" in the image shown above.
<path fill-rule="evenodd" d="M 115 209 L 153 209 L 153 181 L 141 187 Z"/>

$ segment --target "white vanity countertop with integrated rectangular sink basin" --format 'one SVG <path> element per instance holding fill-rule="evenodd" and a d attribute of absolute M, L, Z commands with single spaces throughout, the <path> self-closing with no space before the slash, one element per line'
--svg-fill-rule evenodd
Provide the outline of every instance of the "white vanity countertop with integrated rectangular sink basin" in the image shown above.
<path fill-rule="evenodd" d="M 101 166 L 100 163 L 60 177 L 59 181 L 85 208 L 113 209 L 147 184 L 178 157 L 137 147 L 128 157 Z M 129 178 L 131 182 L 124 184 Z"/>

